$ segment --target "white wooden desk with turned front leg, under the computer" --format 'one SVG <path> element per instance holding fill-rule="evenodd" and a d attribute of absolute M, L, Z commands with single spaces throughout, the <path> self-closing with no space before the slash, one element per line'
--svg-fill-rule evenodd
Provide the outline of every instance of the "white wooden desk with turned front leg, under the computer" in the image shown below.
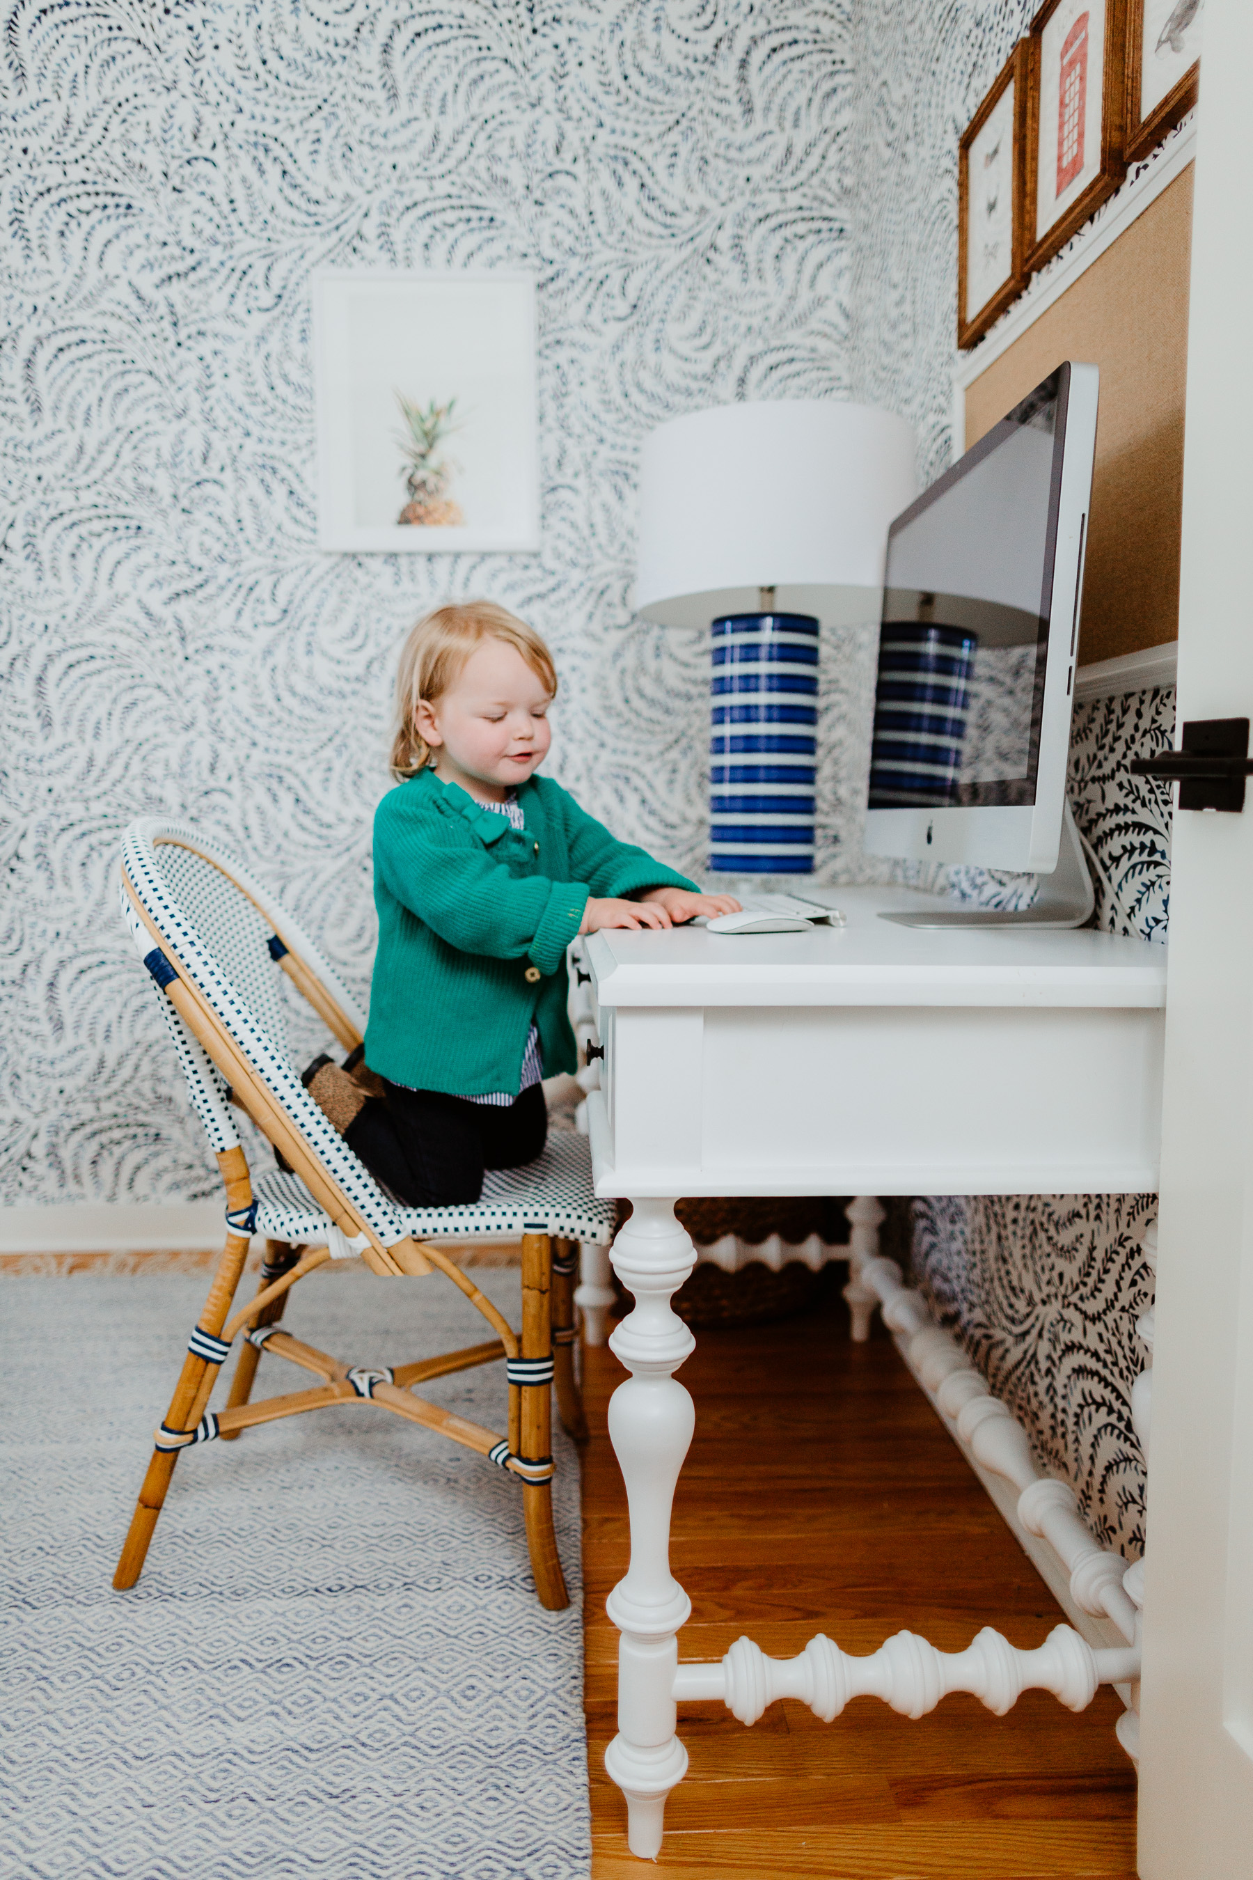
<path fill-rule="evenodd" d="M 635 1310 L 611 1339 L 631 1371 L 609 1410 L 631 1566 L 609 1598 L 622 1645 L 607 1767 L 641 1856 L 656 1856 L 688 1765 L 676 1701 L 733 1703 L 731 1669 L 676 1671 L 691 1604 L 669 1570 L 669 1523 L 693 1410 L 673 1372 L 695 1340 L 671 1295 L 695 1254 L 674 1201 L 1157 1188 L 1165 948 L 881 921 L 885 908 L 934 904 L 905 889 L 828 899 L 845 927 L 611 931 L 584 944 L 605 1049 L 588 1102 L 596 1186 L 635 1209 L 612 1250 Z M 806 1701 L 819 1701 L 815 1677 L 843 1675 L 819 1658 L 793 1677 Z M 759 1675 L 746 1666 L 750 1683 Z"/>

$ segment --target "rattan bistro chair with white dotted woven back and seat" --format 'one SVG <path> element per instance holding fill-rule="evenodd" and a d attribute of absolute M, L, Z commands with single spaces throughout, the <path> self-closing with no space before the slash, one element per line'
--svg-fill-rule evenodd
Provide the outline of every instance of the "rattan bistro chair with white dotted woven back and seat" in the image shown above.
<path fill-rule="evenodd" d="M 122 912 L 162 1006 L 192 1102 L 225 1184 L 225 1250 L 139 1491 L 113 1579 L 133 1587 L 182 1449 L 233 1438 L 255 1423 L 325 1404 L 374 1404 L 475 1449 L 518 1478 L 526 1538 L 543 1606 L 569 1604 L 552 1534 L 550 1384 L 562 1419 L 580 1436 L 582 1406 L 573 1369 L 573 1280 L 579 1241 L 612 1239 L 614 1205 L 592 1192 L 580 1136 L 552 1134 L 539 1162 L 488 1173 L 475 1207 L 410 1209 L 391 1201 L 331 1126 L 286 1051 L 280 972 L 348 1049 L 364 1017 L 293 919 L 218 844 L 195 829 L 147 818 L 122 842 Z M 293 1173 L 267 1169 L 254 1181 L 231 1107 L 233 1098 L 280 1151 Z M 254 1233 L 267 1258 L 255 1297 L 227 1322 Z M 522 1241 L 522 1333 L 513 1331 L 460 1267 L 425 1237 Z M 492 1329 L 485 1344 L 394 1369 L 346 1365 L 280 1327 L 287 1292 L 327 1260 L 361 1258 L 379 1277 L 440 1269 L 473 1301 Z M 218 1371 L 244 1333 L 225 1410 L 210 1412 Z M 261 1352 L 274 1352 L 317 1378 L 316 1387 L 250 1402 Z M 425 1402 L 425 1378 L 505 1361 L 509 1433 L 468 1423 Z"/>

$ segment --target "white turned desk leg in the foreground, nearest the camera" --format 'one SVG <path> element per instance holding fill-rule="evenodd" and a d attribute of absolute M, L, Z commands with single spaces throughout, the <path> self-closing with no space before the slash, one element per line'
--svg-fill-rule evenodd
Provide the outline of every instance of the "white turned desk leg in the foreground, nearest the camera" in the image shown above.
<path fill-rule="evenodd" d="M 609 1340 L 631 1372 L 609 1402 L 609 1436 L 631 1517 L 631 1564 L 607 1602 L 622 1639 L 618 1735 L 605 1750 L 605 1769 L 626 1795 L 631 1854 L 656 1859 L 665 1797 L 688 1769 L 688 1750 L 674 1735 L 674 1669 L 676 1632 L 691 1600 L 671 1574 L 671 1506 L 695 1414 L 673 1372 L 695 1339 L 671 1312 L 671 1293 L 691 1273 L 695 1248 L 674 1220 L 674 1201 L 635 1201 L 612 1261 L 635 1310 Z"/>

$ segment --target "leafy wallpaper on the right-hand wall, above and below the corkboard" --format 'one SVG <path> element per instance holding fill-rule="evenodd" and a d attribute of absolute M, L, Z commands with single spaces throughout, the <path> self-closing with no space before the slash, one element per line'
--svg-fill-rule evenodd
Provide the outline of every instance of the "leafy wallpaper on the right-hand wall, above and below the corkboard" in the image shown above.
<path fill-rule="evenodd" d="M 883 0 L 855 17 L 853 387 L 917 423 L 924 476 L 951 453 L 956 141 L 1033 13 L 1035 0 Z M 1075 711 L 1069 791 L 1110 932 L 1167 934 L 1170 799 L 1125 763 L 1172 735 L 1170 690 Z M 1026 899 L 1022 878 L 979 869 L 949 870 L 949 885 L 984 906 Z M 1093 1534 L 1131 1559 L 1144 1549 L 1144 1461 L 1129 1393 L 1144 1365 L 1135 1320 L 1153 1211 L 1152 1196 L 915 1201 L 913 1267 L 937 1316 L 1041 1461 L 1073 1481 Z"/>

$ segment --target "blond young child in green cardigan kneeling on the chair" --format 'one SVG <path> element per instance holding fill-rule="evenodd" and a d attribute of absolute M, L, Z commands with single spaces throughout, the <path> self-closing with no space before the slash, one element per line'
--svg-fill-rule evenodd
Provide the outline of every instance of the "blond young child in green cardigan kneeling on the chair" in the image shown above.
<path fill-rule="evenodd" d="M 552 654 L 492 602 L 436 607 L 396 679 L 400 778 L 374 816 L 379 917 L 366 1062 L 383 1094 L 346 1130 L 402 1201 L 477 1201 L 549 1130 L 541 1077 L 577 1068 L 565 948 L 599 927 L 729 914 L 642 848 L 616 842 L 535 771 L 549 754 Z M 376 1087 L 378 1089 L 378 1087 Z"/>

